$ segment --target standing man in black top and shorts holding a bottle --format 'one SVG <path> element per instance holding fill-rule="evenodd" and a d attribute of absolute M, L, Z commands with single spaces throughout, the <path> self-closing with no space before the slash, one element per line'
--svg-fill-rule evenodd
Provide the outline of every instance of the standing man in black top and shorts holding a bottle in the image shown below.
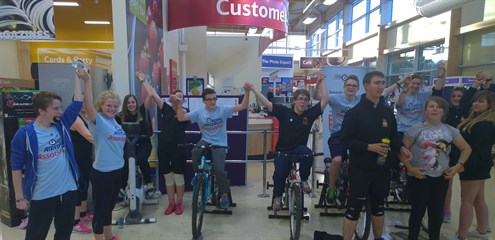
<path fill-rule="evenodd" d="M 371 201 L 371 221 L 375 239 L 381 239 L 384 222 L 384 199 L 390 187 L 391 161 L 377 161 L 392 151 L 410 160 L 411 152 L 397 135 L 397 121 L 381 96 L 385 88 L 383 73 L 373 71 L 363 78 L 366 93 L 361 101 L 344 116 L 341 143 L 349 149 L 349 199 L 344 216 L 343 238 L 351 240 L 357 220 L 367 198 Z M 390 139 L 390 145 L 382 143 Z"/>

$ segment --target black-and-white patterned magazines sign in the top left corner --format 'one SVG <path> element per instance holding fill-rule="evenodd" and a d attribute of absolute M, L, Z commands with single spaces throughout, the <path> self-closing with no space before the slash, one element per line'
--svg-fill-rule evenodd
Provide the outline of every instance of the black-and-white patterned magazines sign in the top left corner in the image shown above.
<path fill-rule="evenodd" d="M 0 1 L 0 40 L 55 39 L 53 0 Z"/>

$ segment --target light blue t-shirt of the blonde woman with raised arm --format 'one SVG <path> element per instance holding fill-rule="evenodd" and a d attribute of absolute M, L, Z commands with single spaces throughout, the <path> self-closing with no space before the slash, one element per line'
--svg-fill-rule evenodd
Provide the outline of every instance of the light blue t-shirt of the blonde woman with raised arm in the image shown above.
<path fill-rule="evenodd" d="M 111 172 L 124 166 L 124 129 L 115 118 L 96 114 L 96 123 L 89 121 L 89 131 L 95 145 L 93 167 L 100 172 Z"/>

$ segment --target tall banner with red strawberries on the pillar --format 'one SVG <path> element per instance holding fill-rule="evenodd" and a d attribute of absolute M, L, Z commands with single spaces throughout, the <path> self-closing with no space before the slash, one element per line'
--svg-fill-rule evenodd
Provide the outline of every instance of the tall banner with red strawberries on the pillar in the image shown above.
<path fill-rule="evenodd" d="M 147 93 L 135 81 L 135 72 L 141 71 L 158 93 L 161 92 L 163 49 L 162 0 L 126 1 L 127 39 L 129 45 L 129 76 L 131 93 L 139 102 L 146 99 Z"/>

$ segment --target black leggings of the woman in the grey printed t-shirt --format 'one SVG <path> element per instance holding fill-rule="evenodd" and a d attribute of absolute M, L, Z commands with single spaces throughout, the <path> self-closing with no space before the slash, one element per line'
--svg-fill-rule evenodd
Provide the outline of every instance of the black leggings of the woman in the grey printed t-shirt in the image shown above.
<path fill-rule="evenodd" d="M 440 239 L 443 222 L 443 207 L 449 181 L 443 176 L 417 179 L 408 177 L 411 193 L 411 214 L 409 215 L 409 240 L 419 237 L 421 221 L 428 209 L 428 235 L 430 240 Z"/>

